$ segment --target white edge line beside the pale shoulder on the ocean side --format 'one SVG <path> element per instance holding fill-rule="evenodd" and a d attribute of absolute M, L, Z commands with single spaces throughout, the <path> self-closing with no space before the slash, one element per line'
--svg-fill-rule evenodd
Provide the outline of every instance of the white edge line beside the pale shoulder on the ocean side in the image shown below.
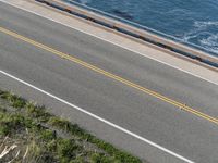
<path fill-rule="evenodd" d="M 106 41 L 106 42 L 109 42 L 109 43 L 114 45 L 114 46 L 117 46 L 117 47 L 123 48 L 123 49 L 129 50 L 129 51 L 131 51 L 131 52 L 134 52 L 134 53 L 136 53 L 136 54 L 146 57 L 146 58 L 148 58 L 148 59 L 155 60 L 155 61 L 157 61 L 157 62 L 159 62 L 159 63 L 162 63 L 162 64 L 165 64 L 165 65 L 168 65 L 168 66 L 170 66 L 170 67 L 173 67 L 173 68 L 175 68 L 175 70 L 179 70 L 179 71 L 181 71 L 181 72 L 184 72 L 184 73 L 186 73 L 186 74 L 190 74 L 190 75 L 192 75 L 192 76 L 198 77 L 198 78 L 201 78 L 201 79 L 203 79 L 203 80 L 206 80 L 206 82 L 208 82 L 208 83 L 211 83 L 211 84 L 218 86 L 218 83 L 211 82 L 211 80 L 209 80 L 209 79 L 207 79 L 207 78 L 204 78 L 204 77 L 202 77 L 202 76 L 199 76 L 199 75 L 196 75 L 196 74 L 193 74 L 193 73 L 191 73 L 191 72 L 184 71 L 184 70 L 182 70 L 182 68 L 180 68 L 180 67 L 177 67 L 177 66 L 174 66 L 174 65 L 171 65 L 171 64 L 169 64 L 169 63 L 167 63 L 167 62 L 160 61 L 160 60 L 155 59 L 155 58 L 153 58 L 153 57 L 149 57 L 149 55 L 146 55 L 146 54 L 141 53 L 141 52 L 138 52 L 138 51 L 135 51 L 135 50 L 133 50 L 133 49 L 130 49 L 130 48 L 123 47 L 123 46 L 121 46 L 121 45 L 114 43 L 114 42 L 112 42 L 112 41 L 110 41 L 110 40 L 107 40 L 107 39 L 105 39 L 105 38 L 98 37 L 98 36 L 93 35 L 93 34 L 90 34 L 90 33 L 83 32 L 83 30 L 81 30 L 81 29 L 78 29 L 78 28 L 75 28 L 75 27 L 72 27 L 72 26 L 70 26 L 70 25 L 68 25 L 68 24 L 63 24 L 63 23 L 61 23 L 60 21 L 57 21 L 57 20 L 53 20 L 53 18 L 50 18 L 50 17 L 46 17 L 46 16 L 39 14 L 39 13 L 29 11 L 29 10 L 24 9 L 24 8 L 22 8 L 22 7 L 17 7 L 17 5 L 12 4 L 12 3 L 10 3 L 10 2 L 8 2 L 8 1 L 5 1 L 5 0 L 0 0 L 0 2 L 3 2 L 3 3 L 7 3 L 7 4 L 9 4 L 9 5 L 12 5 L 12 7 L 14 7 L 14 8 L 17 8 L 17 9 L 24 10 L 24 11 L 27 11 L 27 12 L 29 12 L 29 13 L 33 13 L 33 14 L 35 14 L 35 15 L 37 15 L 37 16 L 40 16 L 40 17 L 44 17 L 44 18 L 46 18 L 46 20 L 50 20 L 50 21 L 52 21 L 52 22 L 55 22 L 55 23 L 61 24 L 61 25 L 63 25 L 63 26 L 66 26 L 66 27 L 69 27 L 69 28 L 72 28 L 72 29 L 74 29 L 74 30 L 81 32 L 81 33 L 83 33 L 83 34 L 86 34 L 86 35 L 93 36 L 93 37 L 95 37 L 95 38 L 101 39 L 101 40 L 104 40 L 104 41 Z"/>

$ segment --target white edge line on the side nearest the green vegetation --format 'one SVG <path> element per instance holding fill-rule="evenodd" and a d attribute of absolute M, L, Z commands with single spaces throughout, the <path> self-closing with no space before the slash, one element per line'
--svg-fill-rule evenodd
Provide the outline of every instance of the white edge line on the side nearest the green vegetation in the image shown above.
<path fill-rule="evenodd" d="M 38 87 L 27 83 L 27 82 L 24 82 L 24 80 L 22 80 L 22 79 L 20 79 L 17 77 L 4 72 L 4 71 L 2 71 L 2 70 L 0 70 L 0 73 L 5 75 L 5 76 L 8 76 L 8 77 L 10 77 L 10 78 L 12 78 L 12 79 L 14 79 L 14 80 L 17 80 L 17 82 L 22 83 L 23 85 L 26 85 L 26 86 L 28 86 L 28 87 L 31 87 L 31 88 L 33 88 L 35 90 L 38 90 L 38 91 L 40 91 L 40 92 L 43 92 L 43 93 L 45 93 L 45 95 L 47 95 L 47 96 L 49 96 L 49 97 L 51 97 L 53 99 L 66 104 L 66 105 L 70 105 L 70 106 L 74 108 L 75 110 L 77 110 L 77 111 L 80 111 L 82 113 L 85 113 L 85 114 L 87 114 L 87 115 L 89 115 L 89 116 L 92 116 L 92 117 L 94 117 L 94 118 L 96 118 L 96 120 L 98 120 L 98 121 L 100 121 L 100 122 L 102 122 L 102 123 L 105 123 L 105 124 L 118 129 L 118 130 L 121 130 L 121 131 L 123 131 L 123 133 L 125 133 L 125 134 L 128 134 L 128 135 L 130 135 L 130 136 L 132 136 L 134 138 L 137 138 L 140 140 L 142 140 L 142 141 L 144 141 L 144 142 L 157 148 L 157 149 L 160 149 L 160 150 L 165 151 L 168 154 L 171 154 L 171 155 L 173 155 L 173 156 L 175 156 L 175 158 L 178 158 L 180 160 L 183 160 L 183 161 L 185 161 L 187 163 L 194 163 L 193 161 L 191 161 L 189 159 L 185 159 L 182 155 L 179 155 L 179 154 L 177 154 L 177 153 L 174 153 L 174 152 L 172 152 L 172 151 L 170 151 L 170 150 L 168 150 L 168 149 L 166 149 L 166 148 L 164 148 L 164 147 L 161 147 L 161 146 L 159 146 L 159 145 L 157 145 L 157 143 L 155 143 L 155 142 L 153 142 L 150 140 L 147 140 L 147 139 L 145 139 L 145 138 L 143 138 L 143 137 L 141 137 L 141 136 L 138 136 L 138 135 L 125 129 L 125 128 L 122 128 L 121 126 L 118 126 L 118 125 L 116 125 L 116 124 L 113 124 L 113 123 L 111 123 L 111 122 L 109 122 L 109 121 L 107 121 L 107 120 L 105 120 L 105 118 L 102 118 L 102 117 L 100 117 L 98 115 L 95 115 L 95 114 L 93 114 L 93 113 L 90 113 L 90 112 L 88 112 L 88 111 L 86 111 L 86 110 L 84 110 L 84 109 L 82 109 L 82 108 L 80 108 L 80 106 L 77 106 L 75 104 L 72 104 L 72 103 L 70 103 L 70 102 L 68 102 L 68 101 L 65 101 L 65 100 L 63 100 L 63 99 L 61 99 L 59 97 L 56 97 L 56 96 L 51 95 L 50 92 L 45 91 L 45 90 L 43 90 L 43 89 L 40 89 L 40 88 L 38 88 Z"/>

